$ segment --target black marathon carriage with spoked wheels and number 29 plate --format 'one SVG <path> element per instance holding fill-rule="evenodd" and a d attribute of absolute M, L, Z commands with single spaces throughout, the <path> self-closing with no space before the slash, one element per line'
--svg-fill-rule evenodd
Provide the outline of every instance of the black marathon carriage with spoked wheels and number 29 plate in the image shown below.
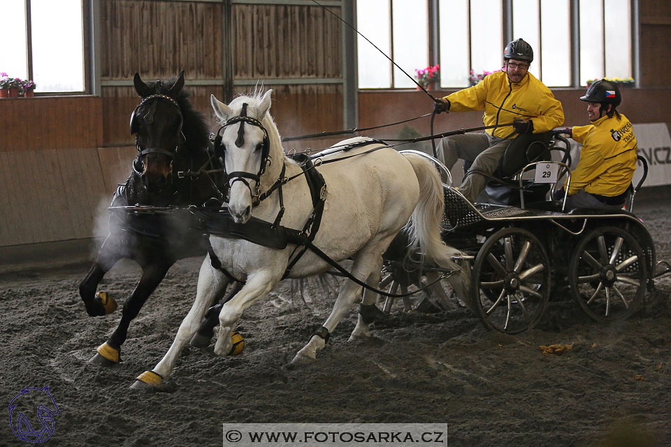
<path fill-rule="evenodd" d="M 544 197 L 552 197 L 562 171 L 570 182 L 570 145 L 555 135 L 548 149 L 563 152 L 562 161 L 533 161 L 519 170 L 514 175 L 517 184 L 507 184 L 508 192 L 518 197 L 514 205 L 473 205 L 452 187 L 449 170 L 426 155 L 447 178 L 443 240 L 474 260 L 470 296 L 463 304 L 486 327 L 500 332 L 515 334 L 533 328 L 551 293 L 567 287 L 593 320 L 627 318 L 646 300 L 654 278 L 671 270 L 667 262 L 656 262 L 654 241 L 631 212 L 635 193 L 647 175 L 645 159 L 639 156 L 643 175 L 630 188 L 626 209 L 564 210 L 563 200 Z M 534 178 L 526 178 L 525 173 L 533 170 Z M 381 286 L 392 293 L 407 293 L 411 286 L 426 288 L 429 296 L 449 307 L 447 293 L 440 282 L 435 283 L 440 274 L 440 269 L 421 269 L 407 258 L 388 256 Z M 411 309 L 410 300 L 404 300 L 405 309 Z M 385 311 L 389 312 L 391 303 L 387 298 Z"/>

